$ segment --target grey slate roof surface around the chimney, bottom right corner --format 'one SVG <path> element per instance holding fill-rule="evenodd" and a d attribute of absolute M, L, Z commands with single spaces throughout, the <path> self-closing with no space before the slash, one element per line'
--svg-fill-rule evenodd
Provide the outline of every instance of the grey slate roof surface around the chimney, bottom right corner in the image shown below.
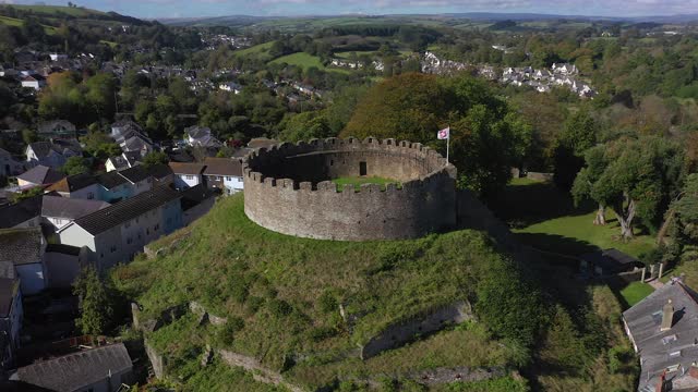
<path fill-rule="evenodd" d="M 623 313 L 623 319 L 641 357 L 642 370 L 638 390 L 646 385 L 654 387 L 660 375 L 670 366 L 681 364 L 683 369 L 688 370 L 691 363 L 698 360 L 697 298 L 696 292 L 674 280 Z M 662 332 L 662 308 L 669 299 L 674 306 L 673 326 Z M 670 372 L 667 379 L 674 375 Z M 698 388 L 698 383 L 694 388 Z"/>

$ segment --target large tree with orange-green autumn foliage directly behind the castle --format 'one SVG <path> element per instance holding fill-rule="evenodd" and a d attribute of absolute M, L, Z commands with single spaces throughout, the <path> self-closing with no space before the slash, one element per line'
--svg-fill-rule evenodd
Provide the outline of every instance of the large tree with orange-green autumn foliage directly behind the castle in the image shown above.
<path fill-rule="evenodd" d="M 341 136 L 418 142 L 445 155 L 446 144 L 436 139 L 436 132 L 446 126 L 458 185 L 485 198 L 510 180 L 531 136 L 531 127 L 485 82 L 423 74 L 395 76 L 372 87 Z"/>

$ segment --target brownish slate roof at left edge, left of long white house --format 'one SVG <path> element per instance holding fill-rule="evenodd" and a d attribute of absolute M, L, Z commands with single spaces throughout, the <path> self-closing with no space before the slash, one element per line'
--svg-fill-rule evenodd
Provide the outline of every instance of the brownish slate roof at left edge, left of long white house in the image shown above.
<path fill-rule="evenodd" d="M 0 230 L 0 261 L 15 266 L 41 261 L 44 235 L 40 228 Z"/>

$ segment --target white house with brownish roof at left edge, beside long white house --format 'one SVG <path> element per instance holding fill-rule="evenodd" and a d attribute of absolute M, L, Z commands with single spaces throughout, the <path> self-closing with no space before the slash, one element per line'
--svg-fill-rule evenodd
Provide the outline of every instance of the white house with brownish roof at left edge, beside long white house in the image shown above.
<path fill-rule="evenodd" d="M 46 287 L 46 240 L 40 228 L 0 230 L 0 261 L 14 265 L 22 293 L 37 294 Z"/>

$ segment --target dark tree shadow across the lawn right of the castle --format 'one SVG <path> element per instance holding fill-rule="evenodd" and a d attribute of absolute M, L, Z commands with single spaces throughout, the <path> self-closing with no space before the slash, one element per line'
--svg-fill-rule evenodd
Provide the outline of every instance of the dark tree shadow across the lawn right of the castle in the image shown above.
<path fill-rule="evenodd" d="M 552 183 L 507 185 L 489 206 L 500 219 L 517 228 L 566 216 L 587 215 L 595 208 L 592 203 L 575 207 L 571 196 Z"/>

